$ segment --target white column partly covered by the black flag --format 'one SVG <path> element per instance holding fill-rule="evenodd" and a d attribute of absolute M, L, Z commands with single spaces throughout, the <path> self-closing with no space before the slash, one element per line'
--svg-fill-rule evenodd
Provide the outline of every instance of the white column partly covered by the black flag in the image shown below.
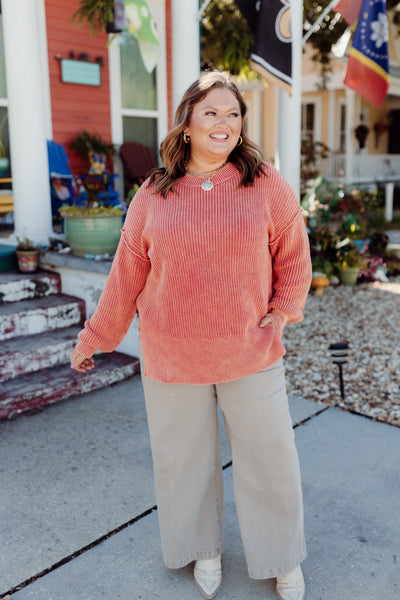
<path fill-rule="evenodd" d="M 279 169 L 300 198 L 303 2 L 291 2 L 292 95 L 279 90 Z"/>

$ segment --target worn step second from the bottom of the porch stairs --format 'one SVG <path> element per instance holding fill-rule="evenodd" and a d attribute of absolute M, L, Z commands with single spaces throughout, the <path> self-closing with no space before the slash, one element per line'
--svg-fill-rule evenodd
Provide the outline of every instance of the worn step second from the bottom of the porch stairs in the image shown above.
<path fill-rule="evenodd" d="M 5 340 L 0 345 L 0 382 L 69 363 L 80 327 Z"/>

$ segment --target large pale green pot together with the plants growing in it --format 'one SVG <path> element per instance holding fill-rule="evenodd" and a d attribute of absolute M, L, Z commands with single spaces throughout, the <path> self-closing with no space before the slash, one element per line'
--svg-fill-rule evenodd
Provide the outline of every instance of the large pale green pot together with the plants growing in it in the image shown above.
<path fill-rule="evenodd" d="M 103 179 L 75 178 L 73 204 L 59 209 L 68 244 L 77 256 L 113 254 L 118 246 L 124 213 L 107 202 Z"/>

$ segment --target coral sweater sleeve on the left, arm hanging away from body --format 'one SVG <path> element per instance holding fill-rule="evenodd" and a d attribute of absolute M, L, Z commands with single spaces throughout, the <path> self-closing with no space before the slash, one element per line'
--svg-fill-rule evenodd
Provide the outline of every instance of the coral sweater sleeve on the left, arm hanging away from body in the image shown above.
<path fill-rule="evenodd" d="M 125 337 L 135 316 L 136 299 L 150 271 L 141 236 L 143 212 L 136 208 L 135 205 L 129 208 L 97 308 L 78 334 L 76 350 L 83 356 L 90 357 L 95 350 L 112 352 Z"/>

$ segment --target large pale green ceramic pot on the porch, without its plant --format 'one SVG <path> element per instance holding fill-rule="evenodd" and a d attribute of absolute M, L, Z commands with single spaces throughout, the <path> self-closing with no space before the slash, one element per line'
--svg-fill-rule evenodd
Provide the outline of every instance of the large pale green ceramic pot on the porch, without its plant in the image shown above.
<path fill-rule="evenodd" d="M 65 216 L 67 241 L 77 256 L 114 254 L 121 225 L 121 217 L 115 215 Z"/>

